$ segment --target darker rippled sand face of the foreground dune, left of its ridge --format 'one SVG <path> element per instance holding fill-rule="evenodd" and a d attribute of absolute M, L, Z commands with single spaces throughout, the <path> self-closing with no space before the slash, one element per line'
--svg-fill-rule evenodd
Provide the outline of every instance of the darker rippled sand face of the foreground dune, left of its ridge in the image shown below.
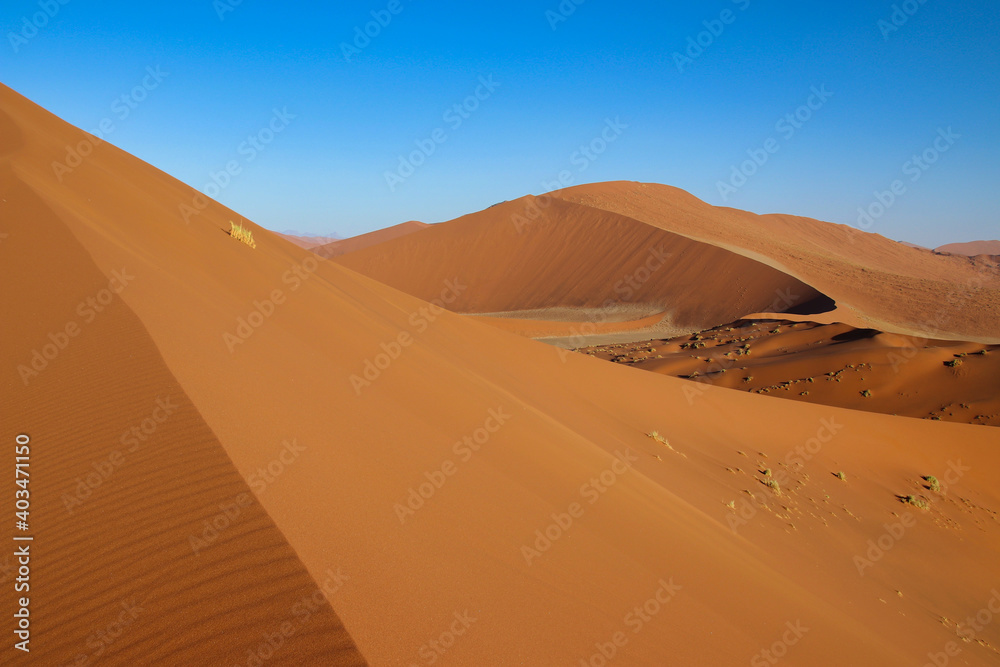
<path fill-rule="evenodd" d="M 0 346 L 3 439 L 31 438 L 20 534 L 35 536 L 31 651 L 0 662 L 247 664 L 277 636 L 268 664 L 364 664 L 109 278 L 9 167 L 0 174 L 0 280 L 16 322 Z M 130 270 L 114 289 L 127 292 Z"/>

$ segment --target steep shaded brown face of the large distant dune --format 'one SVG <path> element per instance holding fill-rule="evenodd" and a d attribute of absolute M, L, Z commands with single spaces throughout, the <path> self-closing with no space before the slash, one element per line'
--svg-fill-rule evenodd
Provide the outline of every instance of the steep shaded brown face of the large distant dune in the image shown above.
<path fill-rule="evenodd" d="M 701 328 L 730 314 L 821 300 L 802 282 L 728 250 L 604 211 L 536 203 L 498 204 L 337 261 L 428 301 L 455 280 L 465 289 L 447 305 L 464 313 L 631 304 L 641 309 L 634 319 L 665 312 Z M 533 210 L 536 217 L 526 217 Z"/>

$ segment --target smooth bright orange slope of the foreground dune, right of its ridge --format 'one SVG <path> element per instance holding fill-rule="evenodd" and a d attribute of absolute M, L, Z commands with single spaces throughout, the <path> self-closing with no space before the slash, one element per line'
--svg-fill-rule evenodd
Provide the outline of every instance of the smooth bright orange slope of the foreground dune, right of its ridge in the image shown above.
<path fill-rule="evenodd" d="M 330 569 L 349 577 L 328 597 L 371 664 L 598 664 L 591 656 L 616 641 L 621 664 L 747 664 L 783 636 L 796 641 L 782 664 L 922 664 L 961 641 L 955 622 L 942 619 L 974 616 L 1000 586 L 994 429 L 725 389 L 692 399 L 688 382 L 429 309 L 251 223 L 252 250 L 225 233 L 232 213 L 216 204 L 185 224 L 178 207 L 193 193 L 111 147 L 59 184 L 50 162 L 83 135 L 6 89 L 0 109 L 26 139 L 12 158 L 16 178 L 104 276 L 122 266 L 135 276 L 117 305 L 145 327 L 235 469 L 269 470 L 289 438 L 305 448 L 271 481 L 248 485 L 310 586 Z M 26 206 L 4 215 L 10 237 L 0 252 L 27 233 Z M 39 256 L 26 253 L 18 266 Z M 72 280 L 82 269 L 59 262 L 52 271 Z M 39 324 L 18 334 L 11 363 L 44 344 L 80 298 L 45 300 L 62 292 L 44 278 L 35 298 L 17 297 L 19 312 Z M 86 348 L 81 334 L 80 363 L 105 363 L 121 345 L 118 330 L 88 329 Z M 58 362 L 75 367 L 70 356 Z M 122 412 L 127 427 L 148 394 L 113 370 L 134 391 L 108 409 L 138 397 Z M 27 405 L 16 373 L 5 372 L 5 404 Z M 32 409 L 39 425 L 76 430 Z M 670 447 L 647 437 L 654 429 Z M 757 472 L 765 460 L 788 474 L 782 495 Z M 946 494 L 920 487 L 920 475 L 946 479 L 953 468 Z M 832 477 L 838 469 L 848 482 Z M 185 467 L 190 493 L 229 494 L 213 470 L 209 461 Z M 33 483 L 47 484 L 41 471 Z M 138 478 L 132 486 L 159 488 Z M 926 495 L 929 509 L 910 509 L 897 494 Z M 156 516 L 155 507 L 131 507 L 138 518 Z M 903 515 L 912 519 L 905 539 L 859 565 L 869 541 Z M 226 535 L 244 529 L 237 523 Z M 79 530 L 107 539 L 96 527 Z M 221 541 L 211 548 L 230 553 Z M 171 559 L 178 586 L 222 571 L 187 562 Z M 81 568 L 95 573 L 87 592 L 101 590 L 98 567 Z M 241 573 L 258 570 L 275 585 L 289 581 L 265 567 Z M 68 606 L 51 605 L 70 618 Z M 155 631 L 169 642 L 191 621 L 165 618 Z M 962 659 L 995 663 L 1000 623 L 975 638 L 982 643 L 962 643 Z"/>

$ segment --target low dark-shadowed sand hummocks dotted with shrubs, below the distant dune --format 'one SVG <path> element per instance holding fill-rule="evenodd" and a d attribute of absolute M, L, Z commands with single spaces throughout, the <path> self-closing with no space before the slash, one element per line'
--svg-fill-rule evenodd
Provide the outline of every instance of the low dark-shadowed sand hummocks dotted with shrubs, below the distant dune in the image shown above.
<path fill-rule="evenodd" d="M 998 346 L 913 338 L 839 323 L 754 319 L 690 336 L 579 352 L 708 386 L 1000 426 Z"/>

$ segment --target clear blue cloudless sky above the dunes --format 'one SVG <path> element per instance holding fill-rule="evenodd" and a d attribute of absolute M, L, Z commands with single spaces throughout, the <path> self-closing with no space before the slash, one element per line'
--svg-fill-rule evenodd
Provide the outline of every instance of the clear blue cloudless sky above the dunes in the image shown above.
<path fill-rule="evenodd" d="M 279 231 L 562 176 L 1000 238 L 996 0 L 576 2 L 5 0 L 0 81 Z"/>

